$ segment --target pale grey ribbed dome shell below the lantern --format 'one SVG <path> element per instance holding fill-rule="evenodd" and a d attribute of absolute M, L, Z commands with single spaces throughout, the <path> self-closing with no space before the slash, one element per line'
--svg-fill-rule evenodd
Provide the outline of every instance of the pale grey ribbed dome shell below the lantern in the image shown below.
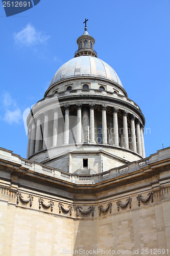
<path fill-rule="evenodd" d="M 84 55 L 72 58 L 64 63 L 54 75 L 49 87 L 63 79 L 79 76 L 105 78 L 123 87 L 114 69 L 106 62 L 96 57 Z"/>

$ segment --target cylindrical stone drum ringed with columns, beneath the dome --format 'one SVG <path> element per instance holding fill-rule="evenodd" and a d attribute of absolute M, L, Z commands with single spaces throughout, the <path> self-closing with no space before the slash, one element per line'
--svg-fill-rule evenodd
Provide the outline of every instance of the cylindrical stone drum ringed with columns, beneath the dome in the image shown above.
<path fill-rule="evenodd" d="M 64 102 L 67 102 L 67 104 Z M 144 154 L 142 152 L 142 145 L 141 143 L 140 145 L 137 144 L 138 142 L 136 141 L 139 133 L 140 142 L 142 140 L 142 119 L 132 110 L 130 111 L 129 109 L 126 109 L 126 134 L 124 132 L 124 106 L 120 106 L 120 104 L 111 104 L 107 101 L 107 99 L 105 99 L 103 104 L 101 104 L 101 100 L 97 99 L 95 101 L 86 102 L 83 100 L 83 103 L 80 99 L 76 101 L 77 103 L 75 103 L 75 101 L 69 100 L 64 102 L 60 102 L 60 104 L 56 105 L 55 97 L 53 97 L 38 102 L 40 104 L 37 104 L 33 107 L 32 113 L 34 114 L 34 126 L 32 116 L 30 115 L 30 118 L 28 118 L 28 127 L 31 133 L 29 135 L 30 152 L 33 153 L 32 155 L 28 155 L 29 159 L 50 164 L 50 166 L 53 167 L 55 167 L 54 165 L 57 164 L 56 166 L 59 168 L 61 155 L 62 158 L 65 159 L 64 155 L 67 151 L 76 152 L 74 154 L 76 154 L 77 158 L 80 159 L 80 162 L 84 159 L 84 157 L 81 158 L 82 150 L 86 155 L 88 155 L 90 151 L 91 164 L 89 168 L 93 169 L 96 173 L 100 173 L 102 172 L 102 169 L 99 166 L 94 166 L 94 159 L 96 160 L 99 158 L 98 153 L 101 148 L 103 150 L 102 154 L 107 156 L 109 154 L 109 159 L 110 162 L 112 162 L 112 166 L 122 165 L 123 162 L 127 163 L 133 160 L 139 160 L 144 157 L 144 155 L 142 155 Z M 43 109 L 46 109 L 46 112 L 44 112 Z M 117 116 L 117 127 L 114 120 L 115 115 Z M 137 134 L 136 130 L 135 136 L 133 135 L 134 138 L 132 138 L 131 133 L 132 116 L 135 116 L 134 125 L 136 127 L 136 121 L 140 122 L 139 133 Z M 47 120 L 45 119 L 46 117 Z M 41 120 L 40 124 L 42 131 L 42 134 L 40 134 L 39 129 L 39 136 L 37 135 L 38 119 Z M 104 127 L 106 128 L 105 130 Z M 32 134 L 34 135 L 34 140 Z M 46 141 L 44 135 L 46 136 Z M 36 138 L 39 139 L 38 148 L 36 147 Z M 132 141 L 134 139 L 136 144 L 136 151 Z M 128 140 L 128 142 L 125 140 Z M 31 151 L 31 147 L 34 148 L 33 151 Z M 123 152 L 125 159 L 121 157 Z M 54 159 L 56 160 L 54 161 Z M 103 156 L 103 159 L 105 159 L 105 161 L 103 160 L 103 165 L 105 166 L 107 163 L 107 157 Z M 67 171 L 66 166 L 64 165 L 64 169 L 62 168 L 62 170 Z M 81 165 L 79 166 L 80 168 Z M 72 173 L 76 172 L 77 169 L 74 169 L 74 165 L 69 163 L 69 166 L 72 170 Z"/>

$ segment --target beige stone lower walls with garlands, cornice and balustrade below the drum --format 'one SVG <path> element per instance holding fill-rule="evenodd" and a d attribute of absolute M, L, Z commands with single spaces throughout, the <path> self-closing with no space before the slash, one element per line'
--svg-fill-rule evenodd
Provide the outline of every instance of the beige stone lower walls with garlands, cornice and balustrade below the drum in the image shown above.
<path fill-rule="evenodd" d="M 0 155 L 1 255 L 170 250 L 170 148 L 86 176 Z"/>

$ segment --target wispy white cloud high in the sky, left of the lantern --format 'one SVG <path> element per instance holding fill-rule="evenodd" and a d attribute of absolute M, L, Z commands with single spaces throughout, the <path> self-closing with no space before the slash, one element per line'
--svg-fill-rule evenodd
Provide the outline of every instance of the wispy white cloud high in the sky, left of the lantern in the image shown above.
<path fill-rule="evenodd" d="M 44 35 L 40 31 L 36 31 L 34 26 L 30 23 L 26 26 L 26 28 L 22 29 L 18 33 L 14 33 L 14 40 L 16 44 L 32 46 L 37 44 L 44 44 L 50 36 Z"/>

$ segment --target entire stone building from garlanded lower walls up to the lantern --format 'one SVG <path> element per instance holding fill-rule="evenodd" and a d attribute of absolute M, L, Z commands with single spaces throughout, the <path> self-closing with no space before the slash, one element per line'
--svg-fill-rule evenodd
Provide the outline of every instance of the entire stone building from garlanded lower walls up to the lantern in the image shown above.
<path fill-rule="evenodd" d="M 0 148 L 0 255 L 170 254 L 170 147 L 145 158 L 144 116 L 86 21 L 28 115 L 27 159 Z"/>

